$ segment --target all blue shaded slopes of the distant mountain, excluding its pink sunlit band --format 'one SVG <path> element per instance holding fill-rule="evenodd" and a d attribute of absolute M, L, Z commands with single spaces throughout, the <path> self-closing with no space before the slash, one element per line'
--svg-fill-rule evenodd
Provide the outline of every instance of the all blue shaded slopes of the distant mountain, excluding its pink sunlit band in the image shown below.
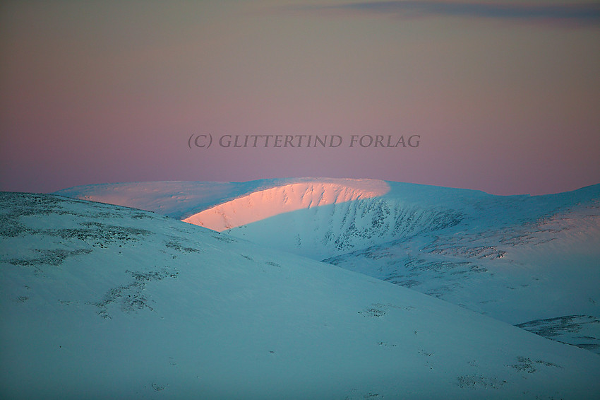
<path fill-rule="evenodd" d="M 546 196 L 492 196 L 388 184 L 382 196 L 305 207 L 227 232 L 524 329 L 527 322 L 582 315 L 582 324 L 558 325 L 548 337 L 600 353 L 600 185 Z M 278 204 L 264 191 L 253 195 L 262 207 Z M 232 204 L 220 206 L 222 218 L 241 208 L 227 211 Z"/>

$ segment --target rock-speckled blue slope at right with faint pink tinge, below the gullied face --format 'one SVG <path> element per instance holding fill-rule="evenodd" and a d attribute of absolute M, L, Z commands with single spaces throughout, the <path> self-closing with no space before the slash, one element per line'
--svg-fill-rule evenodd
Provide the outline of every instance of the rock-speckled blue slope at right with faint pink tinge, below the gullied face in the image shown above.
<path fill-rule="evenodd" d="M 589 192 L 535 218 L 523 213 L 484 229 L 473 221 L 325 261 L 524 329 L 526 322 L 586 316 L 587 326 L 558 324 L 548 337 L 598 353 L 600 196 L 587 198 Z"/>

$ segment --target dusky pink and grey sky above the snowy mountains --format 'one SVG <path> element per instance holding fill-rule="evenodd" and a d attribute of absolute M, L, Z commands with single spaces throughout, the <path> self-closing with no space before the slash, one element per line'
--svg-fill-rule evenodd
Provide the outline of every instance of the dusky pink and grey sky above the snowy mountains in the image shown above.
<path fill-rule="evenodd" d="M 270 177 L 546 194 L 600 183 L 584 1 L 3 1 L 0 190 Z M 189 148 L 193 134 L 418 148 Z"/>

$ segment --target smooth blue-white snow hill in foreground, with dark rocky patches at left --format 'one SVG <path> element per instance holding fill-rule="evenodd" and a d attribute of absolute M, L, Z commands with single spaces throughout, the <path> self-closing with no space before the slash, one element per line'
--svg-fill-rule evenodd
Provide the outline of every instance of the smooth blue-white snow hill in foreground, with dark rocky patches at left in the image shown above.
<path fill-rule="evenodd" d="M 155 213 L 0 196 L 3 399 L 596 399 L 600 357 Z"/>

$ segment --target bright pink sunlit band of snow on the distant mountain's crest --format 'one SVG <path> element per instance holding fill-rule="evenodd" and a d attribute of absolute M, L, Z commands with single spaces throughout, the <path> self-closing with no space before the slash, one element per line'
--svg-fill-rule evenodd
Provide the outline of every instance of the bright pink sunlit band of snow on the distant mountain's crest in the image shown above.
<path fill-rule="evenodd" d="M 281 213 L 383 196 L 389 190 L 383 180 L 299 182 L 241 196 L 189 216 L 184 222 L 222 232 Z"/>

